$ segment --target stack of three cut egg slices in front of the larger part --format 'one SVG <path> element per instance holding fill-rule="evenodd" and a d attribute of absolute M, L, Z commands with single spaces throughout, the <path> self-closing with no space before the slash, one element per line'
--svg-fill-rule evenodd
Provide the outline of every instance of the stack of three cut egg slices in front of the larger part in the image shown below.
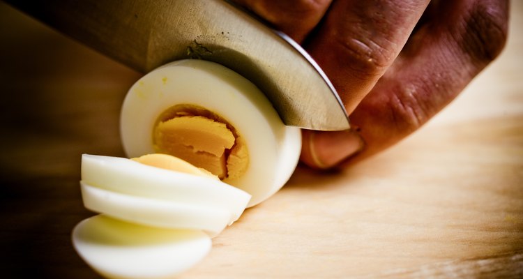
<path fill-rule="evenodd" d="M 211 237 L 250 199 L 209 172 L 165 154 L 82 156 L 84 206 L 102 213 L 73 229 L 73 246 L 107 278 L 167 278 L 199 262 Z"/>

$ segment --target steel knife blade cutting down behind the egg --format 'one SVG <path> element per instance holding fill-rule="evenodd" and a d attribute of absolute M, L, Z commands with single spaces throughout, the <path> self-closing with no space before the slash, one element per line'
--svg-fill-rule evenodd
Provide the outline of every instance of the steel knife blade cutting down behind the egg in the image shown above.
<path fill-rule="evenodd" d="M 310 55 L 228 1 L 7 2 L 142 73 L 179 59 L 214 61 L 256 84 L 286 125 L 349 128 L 338 93 Z"/>

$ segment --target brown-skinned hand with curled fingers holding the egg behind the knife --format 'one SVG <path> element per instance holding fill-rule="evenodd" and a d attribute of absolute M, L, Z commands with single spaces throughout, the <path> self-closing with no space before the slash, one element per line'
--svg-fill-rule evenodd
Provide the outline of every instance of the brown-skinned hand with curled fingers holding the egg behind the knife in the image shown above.
<path fill-rule="evenodd" d="M 508 0 L 237 0 L 301 43 L 331 79 L 351 130 L 303 130 L 303 163 L 347 165 L 450 103 L 503 49 Z"/>

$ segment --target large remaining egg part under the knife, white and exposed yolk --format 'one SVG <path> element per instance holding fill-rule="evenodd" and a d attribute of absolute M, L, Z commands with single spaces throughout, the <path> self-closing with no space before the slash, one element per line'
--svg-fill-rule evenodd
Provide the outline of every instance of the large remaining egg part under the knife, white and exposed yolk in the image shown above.
<path fill-rule="evenodd" d="M 287 182 L 301 151 L 300 129 L 285 126 L 254 84 L 202 60 L 137 81 L 123 102 L 121 137 L 130 157 L 169 153 L 208 169 L 252 195 L 248 206 Z"/>

